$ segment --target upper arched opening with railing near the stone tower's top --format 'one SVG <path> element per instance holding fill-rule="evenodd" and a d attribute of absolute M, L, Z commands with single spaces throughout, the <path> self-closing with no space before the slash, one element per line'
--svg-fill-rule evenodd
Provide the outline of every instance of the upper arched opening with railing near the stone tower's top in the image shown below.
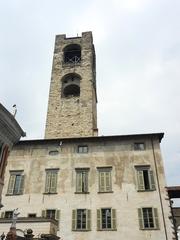
<path fill-rule="evenodd" d="M 78 44 L 71 44 L 64 48 L 64 63 L 80 63 L 81 47 Z"/>

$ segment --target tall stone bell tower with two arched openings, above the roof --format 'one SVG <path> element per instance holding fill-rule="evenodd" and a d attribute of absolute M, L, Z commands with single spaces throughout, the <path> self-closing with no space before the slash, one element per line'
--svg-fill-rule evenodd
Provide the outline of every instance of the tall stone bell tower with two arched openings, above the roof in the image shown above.
<path fill-rule="evenodd" d="M 57 35 L 45 138 L 97 135 L 96 56 L 91 32 Z"/>

